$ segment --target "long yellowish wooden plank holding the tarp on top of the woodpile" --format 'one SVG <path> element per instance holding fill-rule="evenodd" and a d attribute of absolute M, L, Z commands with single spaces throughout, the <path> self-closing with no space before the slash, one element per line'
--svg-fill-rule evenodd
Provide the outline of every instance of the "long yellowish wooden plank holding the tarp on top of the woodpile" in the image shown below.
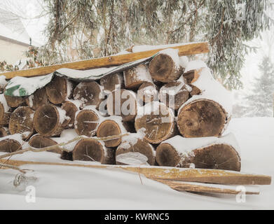
<path fill-rule="evenodd" d="M 177 46 L 167 47 L 167 48 L 178 49 L 179 56 L 196 55 L 196 54 L 209 52 L 207 42 L 190 43 L 190 44 L 177 45 Z M 62 68 L 86 70 L 86 69 L 95 69 L 95 68 L 107 67 L 107 66 L 118 66 L 128 62 L 134 62 L 138 59 L 151 57 L 155 55 L 157 52 L 159 52 L 160 50 L 164 50 L 164 49 L 166 48 L 160 48 L 156 50 L 146 50 L 143 52 L 128 53 L 125 55 L 111 55 L 107 57 L 83 60 L 79 62 L 67 62 L 64 64 L 55 64 L 51 66 L 43 66 L 43 67 L 34 68 L 34 69 L 11 71 L 6 73 L 1 73 L 1 75 L 4 75 L 6 76 L 7 79 L 10 79 L 15 76 L 23 76 L 23 77 L 42 76 Z"/>

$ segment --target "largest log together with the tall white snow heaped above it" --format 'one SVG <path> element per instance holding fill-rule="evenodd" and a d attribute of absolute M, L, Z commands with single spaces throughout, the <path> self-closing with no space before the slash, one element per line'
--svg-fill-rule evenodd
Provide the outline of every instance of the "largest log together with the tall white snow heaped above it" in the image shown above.
<path fill-rule="evenodd" d="M 187 69 L 200 69 L 200 77 L 191 85 L 200 90 L 178 111 L 177 126 L 184 137 L 218 137 L 231 119 L 232 98 L 204 62 L 189 62 Z"/>

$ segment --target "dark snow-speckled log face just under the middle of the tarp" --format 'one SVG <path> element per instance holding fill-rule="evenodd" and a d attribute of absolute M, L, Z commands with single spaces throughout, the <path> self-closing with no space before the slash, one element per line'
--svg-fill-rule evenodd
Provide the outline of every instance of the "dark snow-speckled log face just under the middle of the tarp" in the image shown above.
<path fill-rule="evenodd" d="M 82 102 L 82 108 L 91 105 L 98 109 L 104 99 L 103 87 L 95 81 L 79 83 L 73 95 L 75 100 Z"/>

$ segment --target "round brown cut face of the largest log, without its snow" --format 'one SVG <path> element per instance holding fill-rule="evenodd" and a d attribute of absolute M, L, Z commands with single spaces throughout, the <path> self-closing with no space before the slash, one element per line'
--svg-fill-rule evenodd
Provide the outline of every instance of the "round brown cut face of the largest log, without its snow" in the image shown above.
<path fill-rule="evenodd" d="M 224 110 L 216 102 L 207 99 L 191 102 L 178 113 L 178 130 L 186 138 L 219 137 L 225 124 Z"/>

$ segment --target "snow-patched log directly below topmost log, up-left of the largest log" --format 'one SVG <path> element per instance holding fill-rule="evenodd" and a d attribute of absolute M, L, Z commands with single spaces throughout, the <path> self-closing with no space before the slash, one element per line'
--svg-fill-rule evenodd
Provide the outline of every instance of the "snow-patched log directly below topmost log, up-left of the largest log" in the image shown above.
<path fill-rule="evenodd" d="M 159 91 L 159 98 L 160 102 L 177 111 L 189 99 L 189 87 L 180 78 L 163 85 Z"/>

